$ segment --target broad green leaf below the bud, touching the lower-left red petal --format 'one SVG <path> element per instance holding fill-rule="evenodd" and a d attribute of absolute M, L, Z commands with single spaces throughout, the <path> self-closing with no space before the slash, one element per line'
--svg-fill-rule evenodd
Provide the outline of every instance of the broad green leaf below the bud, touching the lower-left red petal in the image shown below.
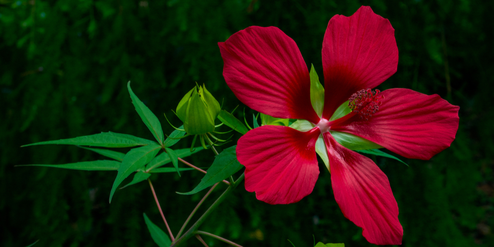
<path fill-rule="evenodd" d="M 225 178 L 228 178 L 229 176 L 233 175 L 235 172 L 239 171 L 244 167 L 239 163 L 237 160 L 237 155 L 235 152 L 235 149 L 237 146 L 229 147 L 223 152 L 221 152 L 219 155 L 214 158 L 214 162 L 207 169 L 206 175 L 204 175 L 203 179 L 201 179 L 201 182 L 199 185 L 196 186 L 194 190 L 191 192 L 187 193 L 179 193 L 181 195 L 192 195 L 196 194 L 204 189 L 206 189 L 209 186 L 212 186 L 213 184 L 222 181 Z"/>

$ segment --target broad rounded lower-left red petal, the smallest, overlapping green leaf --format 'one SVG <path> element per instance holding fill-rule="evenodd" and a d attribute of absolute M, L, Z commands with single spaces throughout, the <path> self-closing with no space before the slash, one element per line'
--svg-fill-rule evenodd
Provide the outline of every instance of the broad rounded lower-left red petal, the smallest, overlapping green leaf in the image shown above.
<path fill-rule="evenodd" d="M 315 145 L 321 132 L 264 125 L 242 136 L 237 158 L 245 165 L 245 187 L 269 204 L 300 201 L 314 189 L 319 167 Z"/>

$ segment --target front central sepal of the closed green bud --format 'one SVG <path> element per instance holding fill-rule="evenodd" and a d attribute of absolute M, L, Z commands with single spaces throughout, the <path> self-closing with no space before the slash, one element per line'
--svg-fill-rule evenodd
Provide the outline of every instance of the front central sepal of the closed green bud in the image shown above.
<path fill-rule="evenodd" d="M 196 90 L 192 91 L 187 107 L 184 129 L 191 135 L 206 134 L 214 131 L 214 121 L 209 115 L 206 103 L 199 97 L 199 93 Z"/>

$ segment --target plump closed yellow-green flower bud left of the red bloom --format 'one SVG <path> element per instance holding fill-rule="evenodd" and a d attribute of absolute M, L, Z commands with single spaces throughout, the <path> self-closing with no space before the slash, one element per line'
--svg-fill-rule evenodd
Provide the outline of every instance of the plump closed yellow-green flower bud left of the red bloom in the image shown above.
<path fill-rule="evenodd" d="M 185 132 L 191 135 L 214 131 L 214 120 L 221 111 L 218 101 L 206 86 L 195 86 L 180 100 L 177 116 L 184 123 Z"/>

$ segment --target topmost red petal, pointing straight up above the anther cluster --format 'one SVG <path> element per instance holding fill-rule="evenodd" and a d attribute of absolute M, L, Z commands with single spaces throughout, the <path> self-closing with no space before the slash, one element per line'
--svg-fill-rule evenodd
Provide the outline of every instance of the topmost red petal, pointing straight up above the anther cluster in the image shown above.
<path fill-rule="evenodd" d="M 388 19 L 362 6 L 350 17 L 329 20 L 323 40 L 323 117 L 360 89 L 374 88 L 396 72 L 398 47 Z"/>

